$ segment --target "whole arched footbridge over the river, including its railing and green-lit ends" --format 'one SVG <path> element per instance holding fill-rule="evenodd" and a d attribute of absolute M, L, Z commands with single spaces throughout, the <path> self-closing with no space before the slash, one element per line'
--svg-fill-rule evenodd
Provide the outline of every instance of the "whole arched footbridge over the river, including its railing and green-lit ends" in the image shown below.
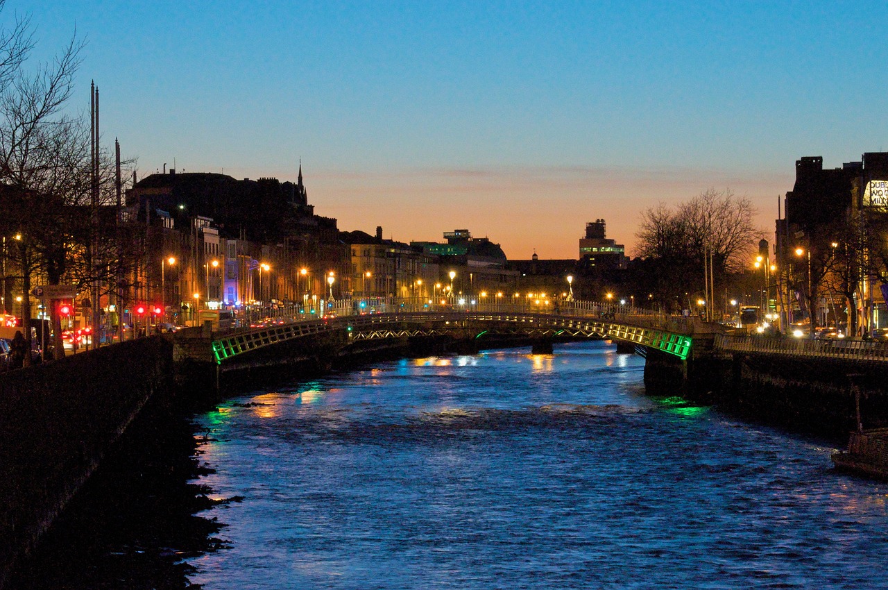
<path fill-rule="evenodd" d="M 214 332 L 212 352 L 216 363 L 263 347 L 321 334 L 345 334 L 350 343 L 372 339 L 450 336 L 483 339 L 490 336 L 523 336 L 527 339 L 606 338 L 653 348 L 685 360 L 695 333 L 704 333 L 693 318 L 672 318 L 607 306 L 581 304 L 546 313 L 545 310 L 414 311 L 373 315 L 348 315 L 322 320 L 284 322 L 250 329 Z M 711 338 L 711 337 L 710 337 Z"/>

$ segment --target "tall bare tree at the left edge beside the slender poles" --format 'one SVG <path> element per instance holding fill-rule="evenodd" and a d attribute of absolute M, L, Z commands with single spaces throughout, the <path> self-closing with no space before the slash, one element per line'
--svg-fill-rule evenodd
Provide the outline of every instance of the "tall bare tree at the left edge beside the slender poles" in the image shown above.
<path fill-rule="evenodd" d="M 5 186 L 0 206 L 17 211 L 0 219 L 0 231 L 19 236 L 14 251 L 23 310 L 30 309 L 32 275 L 45 269 L 46 255 L 64 243 L 62 218 L 70 215 L 67 205 L 83 194 L 89 145 L 83 119 L 63 111 L 74 89 L 83 43 L 73 37 L 55 60 L 28 72 L 32 30 L 27 19 L 20 19 L 0 34 L 0 48 L 5 48 L 0 54 L 0 183 Z M 30 340 L 29 312 L 22 314 L 22 327 Z"/>

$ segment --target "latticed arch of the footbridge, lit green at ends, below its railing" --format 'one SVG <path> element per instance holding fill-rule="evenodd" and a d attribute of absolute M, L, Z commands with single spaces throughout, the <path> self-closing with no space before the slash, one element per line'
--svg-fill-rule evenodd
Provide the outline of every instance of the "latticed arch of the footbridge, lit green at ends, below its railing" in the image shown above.
<path fill-rule="evenodd" d="M 639 317 L 637 323 L 644 323 Z M 357 315 L 327 322 L 297 322 L 217 334 L 213 355 L 222 363 L 236 355 L 292 339 L 311 338 L 346 331 L 353 342 L 370 339 L 471 335 L 520 335 L 528 338 L 609 338 L 654 348 L 685 360 L 693 339 L 686 334 L 662 331 L 629 321 L 536 314 L 411 313 Z"/>

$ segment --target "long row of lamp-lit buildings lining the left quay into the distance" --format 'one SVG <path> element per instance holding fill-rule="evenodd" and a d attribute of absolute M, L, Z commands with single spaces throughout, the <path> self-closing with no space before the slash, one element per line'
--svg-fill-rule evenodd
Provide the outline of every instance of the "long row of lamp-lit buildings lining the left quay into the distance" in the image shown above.
<path fill-rule="evenodd" d="M 331 297 L 489 304 L 528 293 L 558 299 L 572 288 L 577 298 L 593 297 L 580 275 L 628 261 L 622 244 L 607 239 L 604 219 L 586 225 L 578 259 L 567 260 L 508 260 L 499 244 L 467 229 L 411 243 L 386 239 L 382 227 L 342 231 L 337 219 L 314 213 L 301 164 L 296 183 L 164 170 L 127 190 L 125 203 L 124 216 L 144 228 L 147 252 L 125 299 L 163 301 L 168 312 L 186 311 L 183 319 L 194 307 L 317 309 Z"/>

